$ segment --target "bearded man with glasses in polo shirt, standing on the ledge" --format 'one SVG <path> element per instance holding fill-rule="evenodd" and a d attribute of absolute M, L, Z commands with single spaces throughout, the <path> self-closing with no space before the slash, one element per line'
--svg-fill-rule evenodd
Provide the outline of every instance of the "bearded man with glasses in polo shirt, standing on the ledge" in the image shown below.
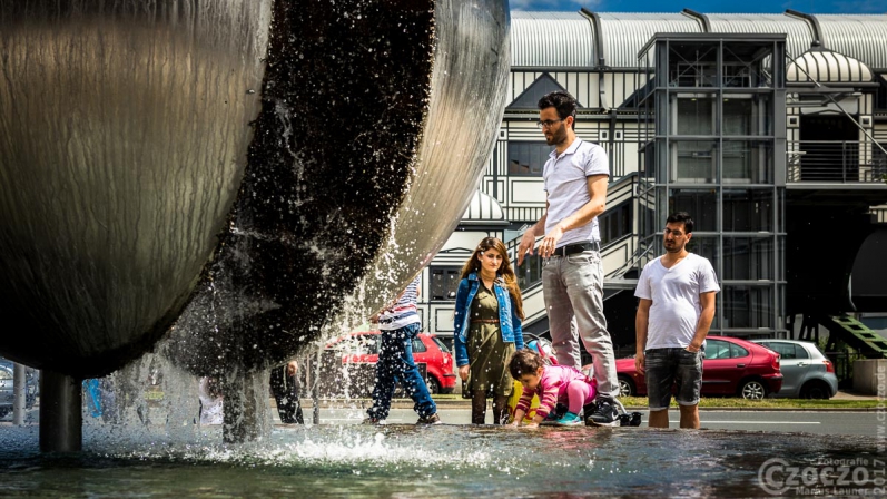
<path fill-rule="evenodd" d="M 598 228 L 610 177 L 607 153 L 576 137 L 573 96 L 554 91 L 542 97 L 538 106 L 538 125 L 554 150 L 542 173 L 545 214 L 521 238 L 518 265 L 525 254 L 533 254 L 536 237 L 544 235 L 539 246 L 540 256 L 548 258 L 542 268 L 542 294 L 558 363 L 581 368 L 581 339 L 592 355 L 598 380 L 594 409 L 587 411 L 585 418 L 597 425 L 618 425 L 619 383 L 613 341 L 603 315 Z"/>

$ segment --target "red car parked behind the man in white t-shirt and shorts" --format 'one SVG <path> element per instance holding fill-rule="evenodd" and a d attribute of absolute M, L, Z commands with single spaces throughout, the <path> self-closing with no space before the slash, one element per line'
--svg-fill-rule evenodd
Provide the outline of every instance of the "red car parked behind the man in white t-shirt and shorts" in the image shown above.
<path fill-rule="evenodd" d="M 623 397 L 645 395 L 647 379 L 634 359 L 617 359 L 619 390 Z M 702 361 L 702 394 L 763 399 L 782 388 L 779 354 L 738 337 L 709 336 Z"/>

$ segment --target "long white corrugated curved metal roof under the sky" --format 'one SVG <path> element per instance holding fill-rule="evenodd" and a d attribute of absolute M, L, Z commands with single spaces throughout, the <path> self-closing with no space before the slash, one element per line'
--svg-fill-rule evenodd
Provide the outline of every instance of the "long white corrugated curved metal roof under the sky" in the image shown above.
<path fill-rule="evenodd" d="M 637 68 L 638 51 L 654 33 L 710 29 L 711 33 L 785 33 L 789 59 L 819 41 L 824 49 L 887 72 L 887 14 L 583 12 L 513 11 L 512 66 L 591 69 L 602 62 L 609 68 Z M 601 55 L 595 47 L 602 48 Z"/>

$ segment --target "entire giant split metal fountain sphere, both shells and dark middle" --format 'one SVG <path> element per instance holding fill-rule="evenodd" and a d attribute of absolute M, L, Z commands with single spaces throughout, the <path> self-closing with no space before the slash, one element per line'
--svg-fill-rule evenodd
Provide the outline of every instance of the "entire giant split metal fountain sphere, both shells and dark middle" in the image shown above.
<path fill-rule="evenodd" d="M 262 369 L 382 306 L 486 164 L 507 30 L 505 0 L 0 0 L 0 354 L 100 375 L 175 323 L 191 370 Z"/>

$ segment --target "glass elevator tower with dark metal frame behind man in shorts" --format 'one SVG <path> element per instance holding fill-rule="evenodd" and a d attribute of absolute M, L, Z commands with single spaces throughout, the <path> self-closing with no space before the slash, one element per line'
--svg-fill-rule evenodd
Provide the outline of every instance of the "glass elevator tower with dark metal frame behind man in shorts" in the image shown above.
<path fill-rule="evenodd" d="M 639 247 L 691 214 L 721 282 L 712 334 L 785 332 L 786 38 L 658 33 L 639 53 Z"/>

